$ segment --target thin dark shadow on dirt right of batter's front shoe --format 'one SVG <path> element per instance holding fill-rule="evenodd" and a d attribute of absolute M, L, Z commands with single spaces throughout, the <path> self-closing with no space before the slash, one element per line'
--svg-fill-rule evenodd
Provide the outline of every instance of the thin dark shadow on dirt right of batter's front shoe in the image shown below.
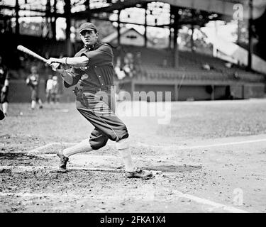
<path fill-rule="evenodd" d="M 200 170 L 202 167 L 199 165 L 157 165 L 145 167 L 145 170 L 154 170 L 162 172 L 192 172 Z"/>

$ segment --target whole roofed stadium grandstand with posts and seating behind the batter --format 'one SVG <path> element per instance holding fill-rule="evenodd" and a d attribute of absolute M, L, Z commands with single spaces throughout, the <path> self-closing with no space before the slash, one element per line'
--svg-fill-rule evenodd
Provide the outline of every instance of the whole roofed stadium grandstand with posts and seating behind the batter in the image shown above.
<path fill-rule="evenodd" d="M 172 92 L 172 101 L 265 96 L 266 57 L 262 51 L 265 48 L 265 31 L 257 23 L 266 15 L 266 4 L 262 1 L 14 0 L 1 1 L 0 4 L 1 55 L 11 72 L 11 90 L 16 91 L 11 92 L 11 101 L 28 101 L 24 79 L 28 76 L 31 65 L 38 65 L 42 72 L 43 96 L 45 79 L 52 73 L 42 62 L 18 52 L 16 46 L 24 45 L 47 58 L 72 56 L 82 47 L 77 28 L 84 21 L 92 21 L 102 31 L 106 31 L 101 38 L 114 46 L 115 67 L 123 70 L 125 58 L 131 58 L 132 74 L 125 74 L 123 78 L 116 77 L 116 85 L 120 90 L 131 94 L 168 91 Z M 142 17 L 135 17 L 135 11 L 139 11 L 136 15 Z M 240 18 L 234 18 L 235 13 Z M 42 18 L 42 22 L 34 23 L 35 18 Z M 63 18 L 65 24 L 61 28 L 64 33 L 61 38 L 57 23 L 59 18 Z M 214 43 L 211 47 L 206 47 L 206 43 L 196 43 L 193 38 L 194 31 L 200 30 L 210 21 L 228 23 L 233 19 L 238 21 L 236 44 L 244 54 L 234 57 L 231 62 L 218 57 L 220 49 L 214 55 Z M 243 43 L 240 40 L 240 31 L 243 31 L 240 29 L 241 23 L 245 28 L 244 36 L 246 35 Z M 127 25 L 135 27 L 125 29 Z M 135 29 L 138 26 L 140 31 Z M 183 50 L 179 46 L 179 31 L 182 26 L 189 28 L 190 37 L 187 39 L 187 49 Z M 167 31 L 168 37 L 163 40 L 164 45 L 159 45 L 162 41 L 160 38 L 155 39 L 150 35 L 154 28 Z M 259 62 L 257 58 L 260 59 Z M 257 67 L 256 64 L 262 67 Z M 74 100 L 70 89 L 61 89 L 61 94 L 64 94 L 61 101 Z"/>

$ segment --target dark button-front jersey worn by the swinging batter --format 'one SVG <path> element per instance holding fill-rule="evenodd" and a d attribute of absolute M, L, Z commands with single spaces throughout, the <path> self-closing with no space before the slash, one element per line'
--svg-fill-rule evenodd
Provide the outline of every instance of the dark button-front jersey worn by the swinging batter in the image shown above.
<path fill-rule="evenodd" d="M 104 89 L 106 86 L 113 85 L 113 51 L 110 45 L 106 43 L 96 43 L 94 48 L 82 48 L 74 57 L 87 56 L 89 63 L 87 67 L 71 67 L 73 83 L 65 87 L 71 87 L 77 84 L 77 87 L 83 91 L 89 89 Z"/>

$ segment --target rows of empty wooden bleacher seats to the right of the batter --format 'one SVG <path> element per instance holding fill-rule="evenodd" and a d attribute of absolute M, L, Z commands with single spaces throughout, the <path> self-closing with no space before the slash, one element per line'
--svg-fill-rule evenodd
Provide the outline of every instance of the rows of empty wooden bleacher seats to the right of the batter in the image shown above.
<path fill-rule="evenodd" d="M 122 51 L 121 51 L 122 50 Z M 265 92 L 265 76 L 245 71 L 238 65 L 228 68 L 225 61 L 198 52 L 179 51 L 179 67 L 172 64 L 170 50 L 155 50 L 123 46 L 115 56 L 126 52 L 140 56 L 136 60 L 138 74 L 131 79 L 117 81 L 121 89 L 133 94 L 134 91 L 156 91 L 157 87 L 172 92 L 172 100 L 214 100 L 248 99 L 262 97 Z M 208 64 L 210 70 L 202 65 Z M 210 89 L 211 87 L 211 89 Z M 230 94 L 228 94 L 228 89 Z M 211 91 L 211 92 L 210 92 Z"/>

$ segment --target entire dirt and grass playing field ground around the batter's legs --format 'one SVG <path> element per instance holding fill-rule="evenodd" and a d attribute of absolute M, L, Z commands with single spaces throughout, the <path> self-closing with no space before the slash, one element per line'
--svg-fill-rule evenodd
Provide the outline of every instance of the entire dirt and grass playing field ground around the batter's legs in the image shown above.
<path fill-rule="evenodd" d="M 173 102 L 165 125 L 121 117 L 149 180 L 123 176 L 111 141 L 57 172 L 57 150 L 92 126 L 74 104 L 29 107 L 0 122 L 1 212 L 266 212 L 265 99 Z"/>

